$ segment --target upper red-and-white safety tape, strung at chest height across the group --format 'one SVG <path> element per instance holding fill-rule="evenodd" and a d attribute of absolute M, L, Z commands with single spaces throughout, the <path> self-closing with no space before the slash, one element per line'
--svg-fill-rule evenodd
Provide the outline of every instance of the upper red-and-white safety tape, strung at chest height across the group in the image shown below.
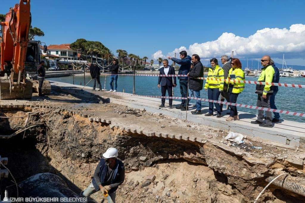
<path fill-rule="evenodd" d="M 106 73 L 107 75 L 114 75 Z M 117 74 L 117 75 L 129 75 L 129 76 L 155 76 L 155 77 L 188 77 L 187 75 L 159 75 L 159 74 Z M 234 83 L 244 83 L 244 84 L 260 84 L 260 85 L 272 85 L 279 87 L 296 87 L 296 88 L 305 88 L 305 85 L 301 84 L 287 84 L 287 83 L 268 83 L 268 82 L 258 82 L 258 81 L 250 81 L 250 80 L 229 80 L 229 79 L 217 79 L 217 78 L 209 78 L 209 77 L 197 77 L 196 79 L 200 80 L 218 80 L 218 81 L 233 81 Z"/>

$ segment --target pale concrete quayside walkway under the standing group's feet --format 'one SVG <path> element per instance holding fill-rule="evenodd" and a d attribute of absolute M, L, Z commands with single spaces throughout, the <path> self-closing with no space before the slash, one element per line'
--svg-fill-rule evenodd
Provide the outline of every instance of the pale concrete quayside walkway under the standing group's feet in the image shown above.
<path fill-rule="evenodd" d="M 167 107 L 159 109 L 158 106 L 161 103 L 159 98 L 148 98 L 142 96 L 136 96 L 133 94 L 118 92 L 118 94 L 109 93 L 107 91 L 91 91 L 92 87 L 73 85 L 68 83 L 61 83 L 56 81 L 50 81 L 52 89 L 62 91 L 76 96 L 92 98 L 101 100 L 102 102 L 112 102 L 120 105 L 127 105 L 132 108 L 146 109 L 149 112 L 160 112 L 164 115 L 185 119 L 186 112 L 179 109 L 168 109 Z M 168 104 L 168 100 L 166 100 Z M 173 105 L 178 105 L 180 102 L 173 101 Z M 208 112 L 208 106 L 206 102 L 203 102 L 203 114 Z M 167 106 L 167 105 L 166 105 Z M 284 120 L 281 123 L 275 123 L 273 128 L 260 127 L 256 124 L 250 123 L 257 118 L 257 115 L 239 111 L 239 121 L 228 122 L 225 119 L 229 117 L 226 114 L 228 110 L 223 112 L 223 117 L 216 118 L 216 116 L 206 117 L 202 115 L 192 115 L 191 111 L 195 109 L 194 105 L 190 106 L 187 111 L 187 120 L 200 123 L 210 127 L 217 127 L 224 130 L 231 130 L 247 136 L 259 137 L 265 140 L 276 142 L 282 146 L 301 147 L 305 148 L 305 123 L 299 123 L 289 120 Z M 239 108 L 239 110 L 242 108 Z"/>

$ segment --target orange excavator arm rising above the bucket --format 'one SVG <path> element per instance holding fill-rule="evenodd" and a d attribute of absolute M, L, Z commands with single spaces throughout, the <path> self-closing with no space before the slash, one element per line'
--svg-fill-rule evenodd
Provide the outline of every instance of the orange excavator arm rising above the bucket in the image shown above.
<path fill-rule="evenodd" d="M 9 94 L 5 88 L 7 81 L 2 78 L 0 99 L 3 98 L 29 98 L 25 89 L 32 89 L 31 83 L 26 81 L 24 63 L 27 52 L 28 35 L 31 23 L 30 0 L 20 0 L 13 8 L 9 9 L 5 21 L 1 22 L 1 76 L 9 75 Z M 3 87 L 5 86 L 5 87 Z M 27 87 L 28 86 L 28 87 Z M 12 91 L 19 91 L 17 96 L 12 96 Z M 20 92 L 22 91 L 22 92 Z M 31 96 L 30 96 L 31 97 Z"/>

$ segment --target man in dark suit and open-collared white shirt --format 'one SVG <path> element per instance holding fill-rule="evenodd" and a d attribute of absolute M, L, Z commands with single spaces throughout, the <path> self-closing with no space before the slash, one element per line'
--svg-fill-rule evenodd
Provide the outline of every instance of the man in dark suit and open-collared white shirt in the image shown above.
<path fill-rule="evenodd" d="M 173 66 L 169 66 L 168 65 L 168 60 L 167 59 L 163 59 L 163 67 L 160 68 L 160 75 L 175 75 L 175 69 Z M 173 82 L 173 77 L 165 77 L 165 76 L 159 76 L 159 80 L 158 80 L 158 88 L 161 87 L 161 93 L 162 96 L 165 96 L 166 94 L 166 90 L 168 93 L 169 97 L 173 96 L 173 87 L 176 87 L 176 77 L 174 77 L 174 82 Z M 163 108 L 164 104 L 165 104 L 165 98 L 162 98 L 161 100 L 161 105 L 159 106 L 159 108 Z M 173 99 L 169 99 L 169 109 L 172 109 L 172 103 L 173 103 Z"/>

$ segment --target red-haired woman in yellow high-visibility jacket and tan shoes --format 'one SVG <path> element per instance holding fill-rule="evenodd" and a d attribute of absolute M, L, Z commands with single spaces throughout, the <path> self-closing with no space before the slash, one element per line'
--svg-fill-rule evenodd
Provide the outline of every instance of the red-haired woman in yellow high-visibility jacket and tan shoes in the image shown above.
<path fill-rule="evenodd" d="M 229 102 L 231 103 L 236 103 L 237 101 L 237 97 L 240 93 L 242 93 L 242 91 L 245 88 L 245 83 L 239 83 L 237 81 L 233 81 L 233 79 L 235 80 L 245 80 L 245 73 L 242 70 L 242 63 L 239 61 L 239 59 L 232 59 L 231 61 L 231 69 L 229 70 L 229 74 L 228 74 L 228 80 L 230 79 L 231 81 L 228 82 L 226 81 L 226 83 L 229 85 L 228 86 L 228 90 L 229 91 Z M 226 121 L 234 121 L 234 120 L 239 120 L 239 117 L 237 115 L 237 108 L 236 106 L 231 106 L 230 105 L 230 116 L 229 118 L 226 119 Z"/>

